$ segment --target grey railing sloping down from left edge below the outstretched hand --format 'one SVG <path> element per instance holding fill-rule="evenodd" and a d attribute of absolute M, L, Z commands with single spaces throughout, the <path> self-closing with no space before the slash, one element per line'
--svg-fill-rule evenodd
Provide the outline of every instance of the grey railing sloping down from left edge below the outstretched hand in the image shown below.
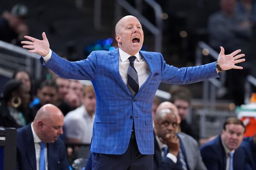
<path fill-rule="evenodd" d="M 24 68 L 34 79 L 41 79 L 40 55 L 29 53 L 26 49 L 0 41 L 0 75 L 11 78 L 18 68 Z"/>

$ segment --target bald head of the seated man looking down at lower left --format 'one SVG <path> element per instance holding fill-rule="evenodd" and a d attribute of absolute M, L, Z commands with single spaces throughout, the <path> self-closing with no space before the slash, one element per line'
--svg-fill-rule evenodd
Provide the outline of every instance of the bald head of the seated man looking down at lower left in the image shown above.
<path fill-rule="evenodd" d="M 63 124 L 64 116 L 61 110 L 55 105 L 47 104 L 38 110 L 33 128 L 42 142 L 52 143 L 58 139 L 59 135 L 63 134 Z"/>

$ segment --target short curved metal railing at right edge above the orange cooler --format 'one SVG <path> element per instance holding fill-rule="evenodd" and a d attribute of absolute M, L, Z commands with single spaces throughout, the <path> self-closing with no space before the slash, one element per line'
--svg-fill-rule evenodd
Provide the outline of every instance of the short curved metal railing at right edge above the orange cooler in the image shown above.
<path fill-rule="evenodd" d="M 252 93 L 252 85 L 256 87 L 256 78 L 248 75 L 244 83 L 244 104 L 250 103 L 250 95 Z"/>

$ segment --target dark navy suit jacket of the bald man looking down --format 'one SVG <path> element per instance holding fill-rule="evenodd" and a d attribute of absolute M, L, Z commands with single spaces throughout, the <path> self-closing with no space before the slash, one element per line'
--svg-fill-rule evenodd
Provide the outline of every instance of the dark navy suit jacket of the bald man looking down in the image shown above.
<path fill-rule="evenodd" d="M 61 139 L 47 143 L 48 170 L 69 170 L 66 147 Z M 36 170 L 35 144 L 31 123 L 17 130 L 16 170 Z"/>

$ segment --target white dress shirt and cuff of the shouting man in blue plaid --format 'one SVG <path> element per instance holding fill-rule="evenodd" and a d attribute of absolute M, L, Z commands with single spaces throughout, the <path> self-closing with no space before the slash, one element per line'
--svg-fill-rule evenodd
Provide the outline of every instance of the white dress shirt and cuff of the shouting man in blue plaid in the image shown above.
<path fill-rule="evenodd" d="M 52 56 L 52 50 L 50 49 L 49 53 L 43 57 L 44 61 L 47 62 Z M 134 61 L 134 68 L 136 69 L 138 73 L 138 79 L 139 79 L 139 88 L 143 85 L 143 83 L 147 80 L 148 75 L 150 74 L 148 64 L 145 61 L 145 59 L 140 55 L 139 52 L 134 55 L 136 57 Z M 131 57 L 130 54 L 127 54 L 125 51 L 122 51 L 121 48 L 119 48 L 119 74 L 122 77 L 122 80 L 127 85 L 127 71 L 128 67 L 130 65 L 129 57 Z"/>

